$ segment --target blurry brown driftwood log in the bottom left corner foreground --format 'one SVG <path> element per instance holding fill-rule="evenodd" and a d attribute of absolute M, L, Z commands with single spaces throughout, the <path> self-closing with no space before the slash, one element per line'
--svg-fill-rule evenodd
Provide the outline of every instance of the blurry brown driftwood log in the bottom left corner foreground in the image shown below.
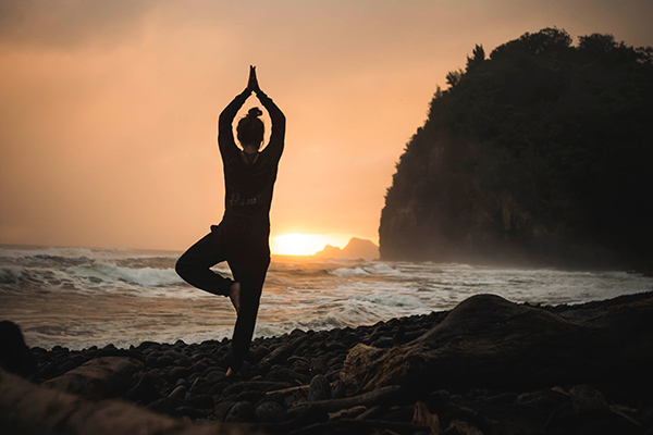
<path fill-rule="evenodd" d="M 91 401 L 0 370 L 0 427 L 7 434 L 238 435 L 247 426 L 185 423 L 119 400 Z"/>

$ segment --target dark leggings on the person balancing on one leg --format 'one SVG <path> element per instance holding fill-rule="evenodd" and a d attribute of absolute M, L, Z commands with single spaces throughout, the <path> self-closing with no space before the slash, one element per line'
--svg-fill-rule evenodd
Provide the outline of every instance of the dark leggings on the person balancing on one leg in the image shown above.
<path fill-rule="evenodd" d="M 234 281 L 209 268 L 226 261 L 234 279 L 241 283 L 241 312 L 232 338 L 231 368 L 241 370 L 249 351 L 259 301 L 270 265 L 269 224 L 223 220 L 211 233 L 180 257 L 175 270 L 188 284 L 213 295 L 227 296 Z"/>

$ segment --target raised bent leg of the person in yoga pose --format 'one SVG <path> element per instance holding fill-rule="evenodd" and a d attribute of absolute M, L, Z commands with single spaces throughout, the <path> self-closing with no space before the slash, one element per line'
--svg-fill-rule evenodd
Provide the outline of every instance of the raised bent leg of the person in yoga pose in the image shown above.
<path fill-rule="evenodd" d="M 180 257 L 175 271 L 186 283 L 201 290 L 226 296 L 234 282 L 210 269 L 225 260 L 226 250 L 215 235 L 209 233 Z"/>

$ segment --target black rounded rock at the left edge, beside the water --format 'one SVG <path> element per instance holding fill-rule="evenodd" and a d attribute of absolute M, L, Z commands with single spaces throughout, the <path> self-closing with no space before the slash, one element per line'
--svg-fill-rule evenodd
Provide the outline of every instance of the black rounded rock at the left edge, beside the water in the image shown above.
<path fill-rule="evenodd" d="M 7 320 L 0 322 L 0 366 L 23 377 L 36 372 L 36 362 L 21 328 Z"/>

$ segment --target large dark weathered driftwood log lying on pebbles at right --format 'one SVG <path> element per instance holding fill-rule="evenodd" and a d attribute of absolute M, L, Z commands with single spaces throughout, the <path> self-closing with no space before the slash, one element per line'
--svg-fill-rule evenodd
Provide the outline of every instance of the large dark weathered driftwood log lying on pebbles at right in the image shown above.
<path fill-rule="evenodd" d="M 520 389 L 651 381 L 653 298 L 617 300 L 570 313 L 475 296 L 407 345 L 391 349 L 357 345 L 341 378 L 350 393 L 387 385 Z"/>

